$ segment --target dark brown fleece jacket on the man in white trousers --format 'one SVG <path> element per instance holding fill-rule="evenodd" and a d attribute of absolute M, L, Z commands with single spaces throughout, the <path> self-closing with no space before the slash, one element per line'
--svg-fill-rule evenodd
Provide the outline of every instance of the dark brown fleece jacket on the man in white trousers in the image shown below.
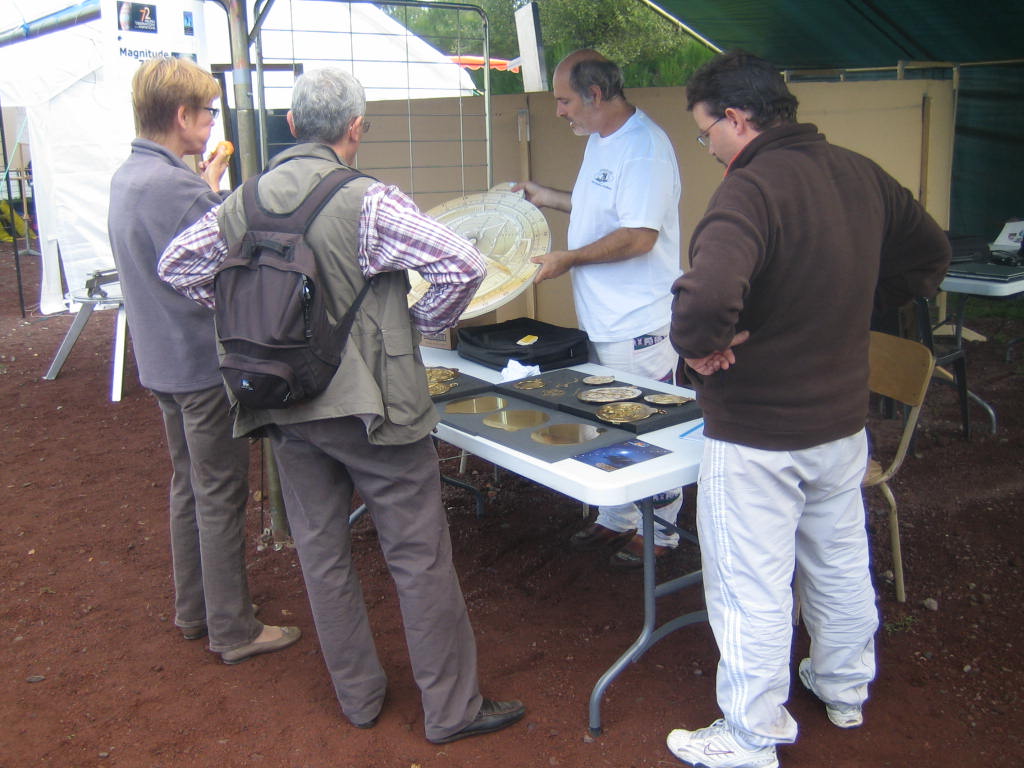
<path fill-rule="evenodd" d="M 910 191 L 810 124 L 770 128 L 733 159 L 673 286 L 683 357 L 724 349 L 727 371 L 687 370 L 705 434 L 796 451 L 857 432 L 867 417 L 872 308 L 932 296 L 948 240 Z"/>

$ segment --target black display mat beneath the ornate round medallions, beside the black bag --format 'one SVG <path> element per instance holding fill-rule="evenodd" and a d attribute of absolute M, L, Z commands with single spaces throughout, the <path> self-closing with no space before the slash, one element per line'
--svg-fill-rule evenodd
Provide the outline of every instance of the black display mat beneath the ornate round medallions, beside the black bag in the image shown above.
<path fill-rule="evenodd" d="M 583 380 L 590 374 L 585 374 L 581 371 L 573 371 L 572 369 L 559 369 L 558 371 L 549 371 L 547 373 L 541 374 L 540 376 L 529 376 L 527 379 L 541 379 L 544 382 L 543 388 L 538 389 L 517 389 L 515 381 L 504 382 L 501 384 L 496 384 L 495 389 L 503 394 L 508 394 L 513 397 L 518 397 L 529 402 L 535 402 L 537 404 L 545 406 L 547 408 L 554 408 L 558 411 L 562 411 L 567 414 L 572 414 L 573 416 L 579 416 L 588 421 L 594 422 L 595 424 L 606 424 L 606 422 L 601 421 L 597 418 L 597 410 L 603 406 L 603 402 L 584 402 L 579 397 L 577 397 L 577 392 L 583 389 L 594 389 L 598 386 L 600 387 L 637 387 L 640 390 L 640 396 L 634 398 L 634 400 L 643 402 L 643 396 L 646 394 L 659 393 L 660 390 L 650 389 L 647 387 L 642 387 L 637 384 L 628 384 L 625 381 L 615 381 L 610 384 L 584 384 Z M 519 381 L 523 381 L 520 379 Z M 546 394 L 547 393 L 547 394 Z M 687 402 L 684 406 L 655 406 L 653 403 L 646 403 L 651 406 L 651 408 L 656 408 L 665 411 L 664 414 L 653 414 L 648 416 L 643 421 L 631 422 L 629 424 L 615 424 L 614 426 L 618 429 L 623 429 L 632 434 L 644 434 L 646 432 L 653 432 L 656 429 L 662 429 L 664 427 L 671 427 L 674 424 L 682 424 L 683 422 L 692 421 L 694 419 L 700 418 L 700 407 L 697 406 L 696 401 Z M 611 426 L 611 425 L 608 425 Z M 595 445 L 595 447 L 597 447 Z"/>

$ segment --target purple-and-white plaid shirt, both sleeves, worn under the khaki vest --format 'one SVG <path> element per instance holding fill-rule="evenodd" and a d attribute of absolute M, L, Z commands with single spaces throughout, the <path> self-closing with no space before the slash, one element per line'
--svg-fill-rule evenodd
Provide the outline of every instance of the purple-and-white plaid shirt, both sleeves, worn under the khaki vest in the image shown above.
<path fill-rule="evenodd" d="M 161 279 L 178 293 L 211 308 L 213 275 L 227 256 L 218 210 L 175 238 L 157 266 Z M 359 268 L 367 278 L 416 269 L 430 284 L 410 309 L 413 325 L 423 333 L 454 326 L 486 275 L 483 257 L 469 241 L 421 213 L 397 187 L 379 181 L 362 199 Z"/>

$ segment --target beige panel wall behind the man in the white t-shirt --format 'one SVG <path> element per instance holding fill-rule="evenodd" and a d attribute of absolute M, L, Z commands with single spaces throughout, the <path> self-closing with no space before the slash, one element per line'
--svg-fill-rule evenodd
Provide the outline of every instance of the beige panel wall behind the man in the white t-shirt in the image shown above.
<path fill-rule="evenodd" d="M 871 158 L 914 196 L 924 191 L 926 208 L 942 226 L 948 226 L 951 82 L 795 83 L 791 87 L 801 102 L 801 122 L 815 123 L 833 143 Z M 628 96 L 668 132 L 675 146 L 683 180 L 680 264 L 685 267 L 693 228 L 725 169 L 696 143 L 697 129 L 686 112 L 684 88 L 634 88 Z M 482 109 L 481 97 L 462 99 L 461 106 L 456 98 L 372 103 L 368 115 L 373 128 L 360 148 L 360 167 L 412 193 L 425 210 L 462 194 L 486 189 Z M 587 139 L 575 136 L 555 115 L 551 93 L 496 96 L 492 132 L 495 184 L 531 178 L 571 189 Z M 460 142 L 465 143 L 462 150 Z M 544 214 L 552 249 L 564 249 L 568 216 L 548 209 Z M 498 311 L 474 319 L 473 325 L 524 314 L 574 327 L 569 276 L 546 281 Z"/>

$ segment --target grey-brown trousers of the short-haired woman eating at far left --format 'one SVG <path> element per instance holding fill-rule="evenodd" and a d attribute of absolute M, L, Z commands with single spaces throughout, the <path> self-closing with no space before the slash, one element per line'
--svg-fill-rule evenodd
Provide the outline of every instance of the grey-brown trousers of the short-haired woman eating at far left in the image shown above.
<path fill-rule="evenodd" d="M 202 627 L 210 650 L 252 642 L 263 625 L 253 616 L 246 580 L 249 443 L 231 437 L 223 387 L 154 392 L 164 414 L 171 477 L 174 624 Z"/>

